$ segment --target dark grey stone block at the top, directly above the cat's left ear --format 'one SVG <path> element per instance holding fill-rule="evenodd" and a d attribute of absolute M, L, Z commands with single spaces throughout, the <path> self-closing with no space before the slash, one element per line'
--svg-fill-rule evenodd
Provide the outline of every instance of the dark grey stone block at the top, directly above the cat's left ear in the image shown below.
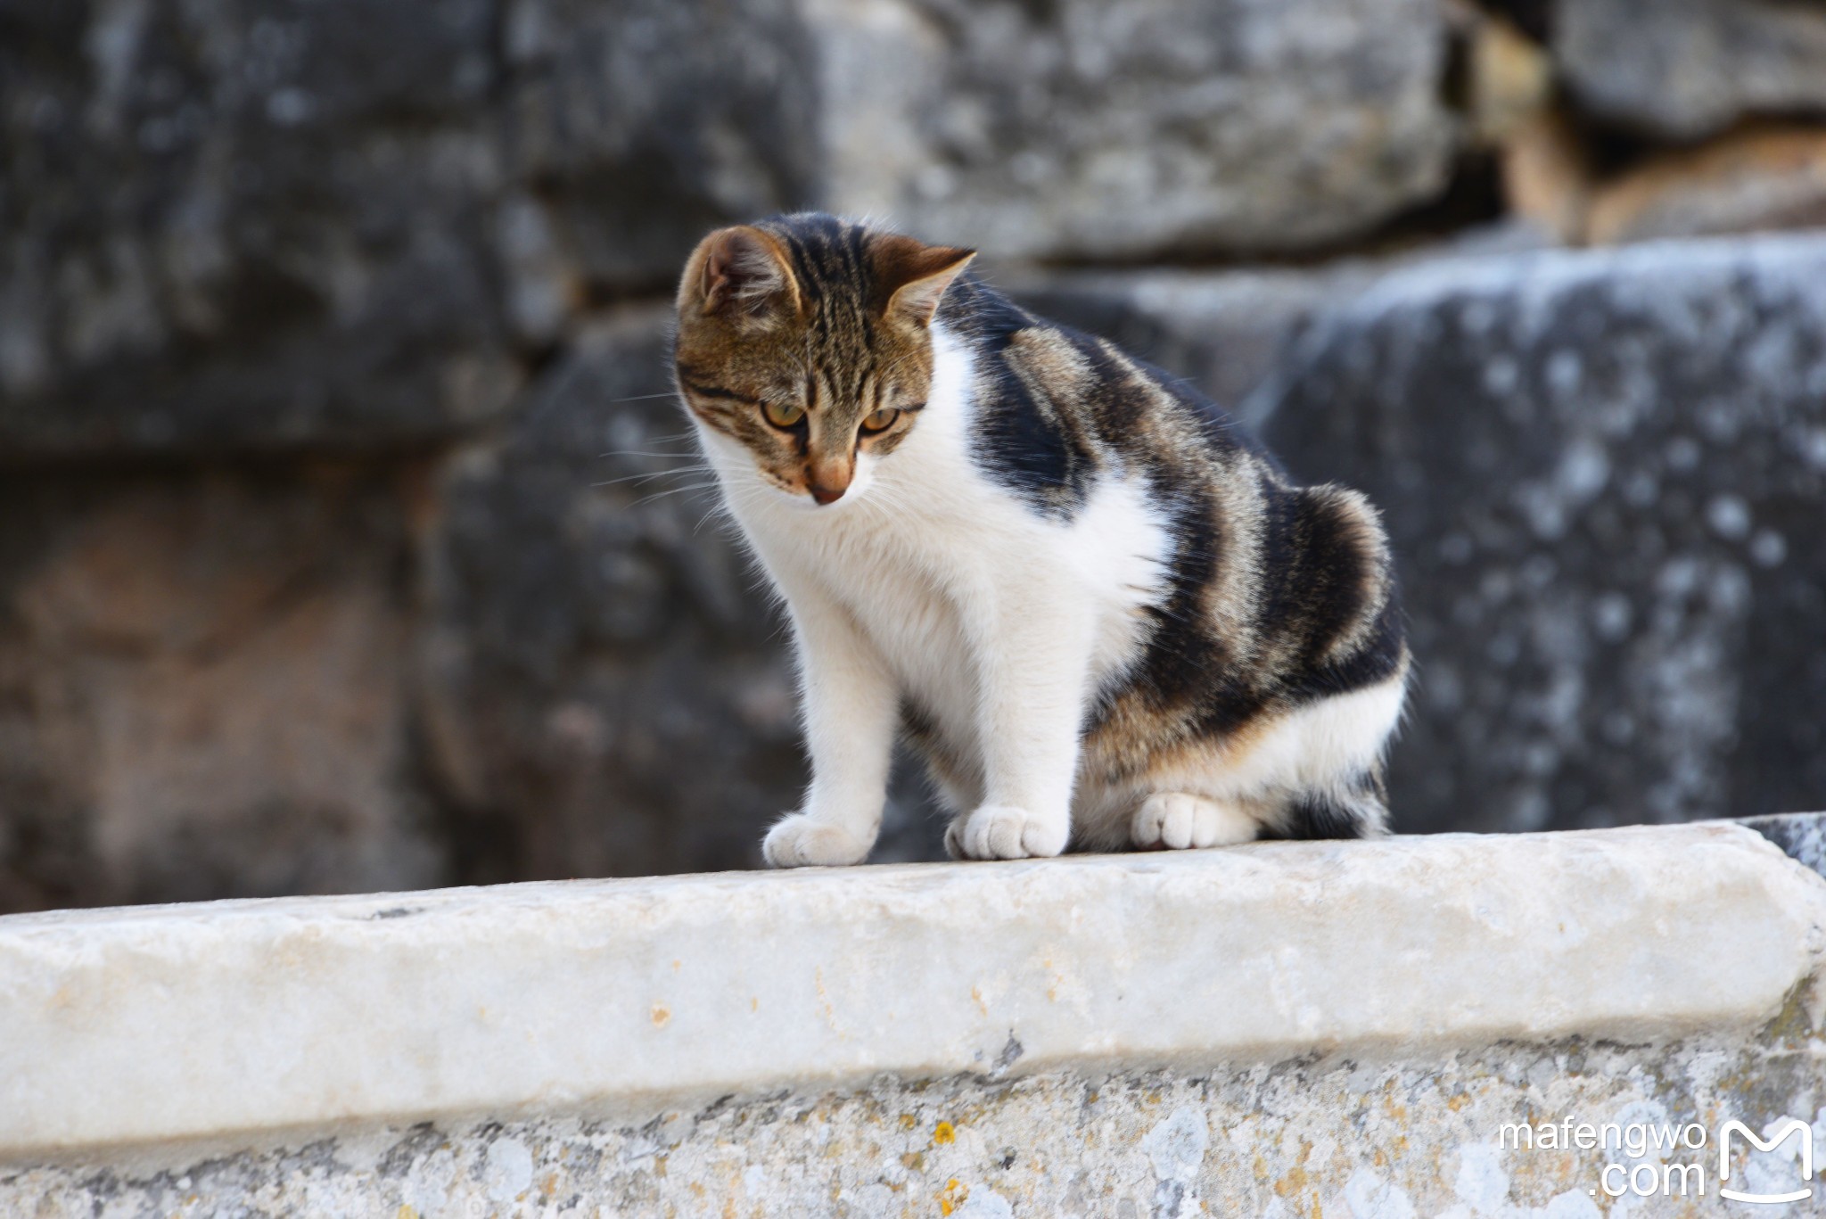
<path fill-rule="evenodd" d="M 718 225 L 805 207 L 822 164 L 794 0 L 506 0 L 509 148 L 566 256 L 668 289 Z"/>

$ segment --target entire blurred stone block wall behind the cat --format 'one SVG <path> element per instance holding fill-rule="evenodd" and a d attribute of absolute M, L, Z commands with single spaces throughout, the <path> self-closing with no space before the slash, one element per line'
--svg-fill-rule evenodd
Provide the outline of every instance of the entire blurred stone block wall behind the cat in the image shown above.
<path fill-rule="evenodd" d="M 1377 497 L 1399 828 L 1826 804 L 1822 4 L 0 0 L 0 910 L 754 864 L 665 300 L 800 207 Z"/>

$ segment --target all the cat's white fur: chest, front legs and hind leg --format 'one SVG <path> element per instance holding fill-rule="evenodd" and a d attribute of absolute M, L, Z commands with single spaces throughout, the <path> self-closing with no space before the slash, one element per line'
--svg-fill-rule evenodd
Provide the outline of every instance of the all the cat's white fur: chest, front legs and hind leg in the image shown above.
<path fill-rule="evenodd" d="M 813 784 L 803 811 L 767 835 L 776 866 L 867 855 L 902 694 L 966 764 L 946 791 L 959 813 L 973 810 L 951 826 L 953 852 L 1059 853 L 1090 696 L 1134 663 L 1139 610 L 1161 592 L 1170 537 L 1139 481 L 1105 473 L 1068 523 L 1035 514 L 971 461 L 968 347 L 935 325 L 933 356 L 908 439 L 886 459 L 864 453 L 847 493 L 825 508 L 771 486 L 743 446 L 699 426 L 798 645 Z M 1317 704 L 1276 726 L 1234 775 L 1189 775 L 1176 790 L 1223 797 L 1360 769 L 1399 702 L 1397 689 Z M 1112 799 L 1139 797 L 1085 791 L 1081 811 Z M 1238 841 L 1234 826 L 1170 837 Z"/>

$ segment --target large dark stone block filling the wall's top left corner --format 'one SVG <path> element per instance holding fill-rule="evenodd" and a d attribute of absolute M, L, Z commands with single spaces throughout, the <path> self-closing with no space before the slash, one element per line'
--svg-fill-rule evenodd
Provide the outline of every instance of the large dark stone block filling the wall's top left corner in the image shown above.
<path fill-rule="evenodd" d="M 489 0 L 0 9 L 0 444 L 411 444 L 520 371 Z"/>

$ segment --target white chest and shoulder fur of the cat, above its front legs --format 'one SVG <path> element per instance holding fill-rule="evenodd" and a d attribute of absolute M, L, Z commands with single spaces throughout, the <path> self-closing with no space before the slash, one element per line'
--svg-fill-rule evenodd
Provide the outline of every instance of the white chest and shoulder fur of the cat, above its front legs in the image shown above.
<path fill-rule="evenodd" d="M 1121 470 L 1101 472 L 1063 517 L 995 484 L 971 453 L 968 358 L 942 336 L 935 351 L 926 413 L 895 453 L 862 462 L 851 497 L 811 508 L 750 488 L 730 504 L 787 599 L 791 570 L 842 605 L 931 727 L 977 755 L 986 658 L 1054 643 L 1008 605 L 1032 588 L 1079 603 L 1088 656 L 1070 667 L 1088 676 L 1077 694 L 1088 709 L 1145 643 L 1172 539 L 1143 481 Z M 747 473 L 740 451 L 718 464 L 725 479 Z"/>

